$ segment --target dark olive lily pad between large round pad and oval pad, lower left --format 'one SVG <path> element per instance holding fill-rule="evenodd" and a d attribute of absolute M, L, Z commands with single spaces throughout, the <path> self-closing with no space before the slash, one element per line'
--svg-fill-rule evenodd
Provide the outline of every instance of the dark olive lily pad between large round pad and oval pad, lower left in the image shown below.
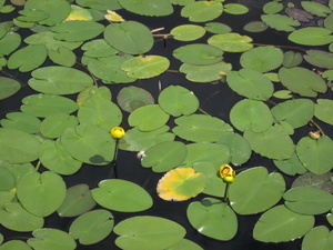
<path fill-rule="evenodd" d="M 57 209 L 60 217 L 77 217 L 95 206 L 88 184 L 77 184 L 67 189 L 62 204 Z"/>

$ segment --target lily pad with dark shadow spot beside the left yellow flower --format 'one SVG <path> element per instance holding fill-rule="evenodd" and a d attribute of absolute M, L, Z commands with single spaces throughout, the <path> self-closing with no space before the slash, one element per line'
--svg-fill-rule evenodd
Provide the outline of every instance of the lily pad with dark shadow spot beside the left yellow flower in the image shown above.
<path fill-rule="evenodd" d="M 110 163 L 115 149 L 115 141 L 108 130 L 87 123 L 67 129 L 61 144 L 74 159 L 95 166 Z"/>

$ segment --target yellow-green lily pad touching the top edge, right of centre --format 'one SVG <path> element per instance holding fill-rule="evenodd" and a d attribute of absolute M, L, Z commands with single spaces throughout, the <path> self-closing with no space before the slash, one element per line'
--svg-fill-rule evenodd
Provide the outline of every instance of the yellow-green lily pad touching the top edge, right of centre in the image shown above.
<path fill-rule="evenodd" d="M 221 16 L 223 6 L 218 1 L 195 1 L 183 7 L 181 16 L 192 22 L 206 22 Z"/>

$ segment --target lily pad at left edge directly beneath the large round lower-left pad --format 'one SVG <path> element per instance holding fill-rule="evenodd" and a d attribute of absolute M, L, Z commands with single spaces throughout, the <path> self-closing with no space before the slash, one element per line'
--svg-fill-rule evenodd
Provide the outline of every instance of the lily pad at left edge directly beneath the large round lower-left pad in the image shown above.
<path fill-rule="evenodd" d="M 18 202 L 8 202 L 0 210 L 0 221 L 4 228 L 18 232 L 29 232 L 43 227 L 44 220 L 28 212 Z"/>

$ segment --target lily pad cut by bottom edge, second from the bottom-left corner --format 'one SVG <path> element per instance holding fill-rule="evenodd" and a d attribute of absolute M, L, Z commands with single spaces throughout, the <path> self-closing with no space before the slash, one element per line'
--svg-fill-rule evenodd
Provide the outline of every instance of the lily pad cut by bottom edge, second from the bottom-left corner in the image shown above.
<path fill-rule="evenodd" d="M 34 250 L 74 250 L 77 242 L 64 231 L 53 228 L 37 229 L 27 243 Z"/>

